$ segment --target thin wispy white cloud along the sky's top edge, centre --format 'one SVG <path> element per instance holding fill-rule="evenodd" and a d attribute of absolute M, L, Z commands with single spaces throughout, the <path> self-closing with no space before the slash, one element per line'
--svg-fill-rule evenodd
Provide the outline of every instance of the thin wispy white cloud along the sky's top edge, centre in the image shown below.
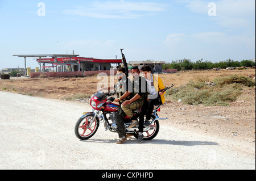
<path fill-rule="evenodd" d="M 75 9 L 64 10 L 65 14 L 102 19 L 141 18 L 166 11 L 166 5 L 154 2 L 106 1 L 92 2 L 88 6 L 76 6 Z M 145 13 L 146 12 L 146 13 Z"/>

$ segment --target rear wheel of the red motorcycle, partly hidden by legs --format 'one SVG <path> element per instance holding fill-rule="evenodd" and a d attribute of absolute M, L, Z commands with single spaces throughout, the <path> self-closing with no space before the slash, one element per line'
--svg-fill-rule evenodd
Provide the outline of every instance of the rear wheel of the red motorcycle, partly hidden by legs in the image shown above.
<path fill-rule="evenodd" d="M 154 119 L 155 119 L 155 116 L 151 116 L 151 120 L 154 120 Z M 146 140 L 146 141 L 153 140 L 158 135 L 159 128 L 160 128 L 159 121 L 156 120 L 155 123 L 150 126 L 150 130 L 143 133 L 144 135 L 143 140 Z M 139 132 L 133 133 L 133 136 L 138 139 Z"/>

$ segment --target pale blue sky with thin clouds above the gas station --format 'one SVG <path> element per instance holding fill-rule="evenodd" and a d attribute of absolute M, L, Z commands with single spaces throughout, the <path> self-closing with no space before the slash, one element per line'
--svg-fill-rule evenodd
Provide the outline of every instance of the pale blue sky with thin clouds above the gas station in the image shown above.
<path fill-rule="evenodd" d="M 255 0 L 0 0 L 0 69 L 24 68 L 13 54 L 121 58 L 120 48 L 128 61 L 254 59 Z"/>

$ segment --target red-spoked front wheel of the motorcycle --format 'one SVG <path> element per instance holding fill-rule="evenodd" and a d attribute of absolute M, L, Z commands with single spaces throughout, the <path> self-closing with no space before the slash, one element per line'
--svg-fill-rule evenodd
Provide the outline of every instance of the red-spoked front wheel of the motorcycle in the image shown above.
<path fill-rule="evenodd" d="M 94 115 L 91 114 L 77 120 L 75 125 L 75 134 L 76 137 L 80 140 L 88 140 L 89 138 L 93 137 L 94 134 L 97 132 L 100 121 L 98 120 L 98 117 L 93 120 L 93 117 Z M 93 121 L 93 123 L 89 127 L 91 121 Z"/>

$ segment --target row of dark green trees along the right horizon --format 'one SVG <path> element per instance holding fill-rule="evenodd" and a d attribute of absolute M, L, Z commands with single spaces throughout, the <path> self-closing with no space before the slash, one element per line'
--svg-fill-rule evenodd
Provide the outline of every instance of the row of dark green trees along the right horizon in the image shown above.
<path fill-rule="evenodd" d="M 203 61 L 198 60 L 196 62 L 192 62 L 191 60 L 184 59 L 183 62 L 172 61 L 171 63 L 167 63 L 163 65 L 163 69 L 177 69 L 177 70 L 208 70 L 213 68 L 221 68 L 226 69 L 229 67 L 252 67 L 255 66 L 255 62 L 251 60 L 242 60 L 242 61 L 234 61 L 234 60 L 225 60 L 213 63 L 211 61 Z"/>

